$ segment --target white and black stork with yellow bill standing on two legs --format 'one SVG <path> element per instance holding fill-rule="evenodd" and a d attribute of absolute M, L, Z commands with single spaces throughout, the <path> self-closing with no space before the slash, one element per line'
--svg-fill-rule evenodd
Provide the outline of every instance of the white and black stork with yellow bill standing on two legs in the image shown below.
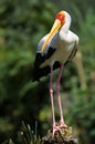
<path fill-rule="evenodd" d="M 78 47 L 78 37 L 70 30 L 71 16 L 66 11 L 60 11 L 55 16 L 54 24 L 51 31 L 43 37 L 39 44 L 34 61 L 33 81 L 40 81 L 42 76 L 50 74 L 50 96 L 53 115 L 53 135 L 56 131 L 61 132 L 61 127 L 67 125 L 63 119 L 60 81 L 64 65 L 70 62 Z M 53 102 L 53 70 L 60 68 L 55 90 L 57 95 L 57 104 L 60 109 L 60 123 L 56 125 Z"/>

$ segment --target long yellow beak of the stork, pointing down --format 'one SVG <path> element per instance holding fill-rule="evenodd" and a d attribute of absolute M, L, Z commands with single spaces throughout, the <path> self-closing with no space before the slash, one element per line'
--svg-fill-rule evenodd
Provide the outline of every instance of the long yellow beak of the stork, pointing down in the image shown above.
<path fill-rule="evenodd" d="M 52 40 L 52 38 L 54 37 L 54 34 L 59 31 L 59 29 L 61 28 L 61 21 L 60 20 L 55 20 L 50 33 L 49 33 L 49 37 L 48 39 L 44 41 L 43 45 L 42 45 L 42 51 L 44 51 L 48 42 L 50 40 Z"/>

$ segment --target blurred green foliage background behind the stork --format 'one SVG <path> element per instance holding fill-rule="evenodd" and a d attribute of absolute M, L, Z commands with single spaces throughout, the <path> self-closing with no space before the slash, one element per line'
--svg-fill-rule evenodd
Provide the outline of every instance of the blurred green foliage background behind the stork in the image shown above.
<path fill-rule="evenodd" d="M 61 10 L 70 12 L 71 29 L 80 37 L 80 52 L 63 71 L 65 123 L 81 144 L 95 142 L 95 1 L 0 0 L 0 143 L 11 137 L 19 144 L 22 121 L 32 128 L 38 122 L 40 135 L 52 125 L 49 76 L 32 83 L 32 71 L 38 42 Z"/>

